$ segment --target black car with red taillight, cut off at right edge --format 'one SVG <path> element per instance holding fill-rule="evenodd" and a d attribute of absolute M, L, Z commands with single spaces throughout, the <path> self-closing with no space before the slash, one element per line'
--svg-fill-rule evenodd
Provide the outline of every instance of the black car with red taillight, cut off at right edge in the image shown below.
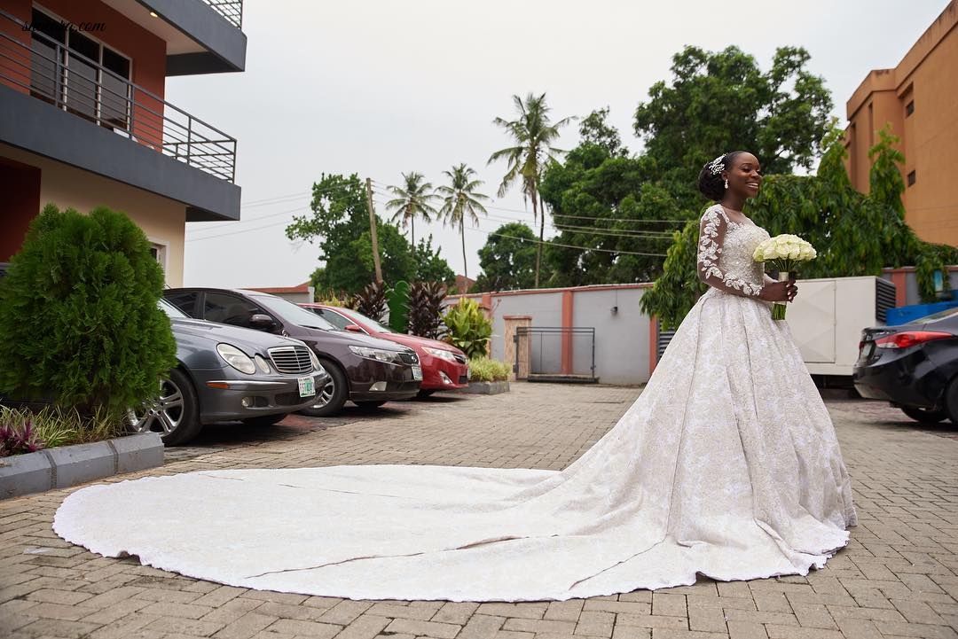
<path fill-rule="evenodd" d="M 853 381 L 912 419 L 958 425 L 958 308 L 863 330 Z"/>

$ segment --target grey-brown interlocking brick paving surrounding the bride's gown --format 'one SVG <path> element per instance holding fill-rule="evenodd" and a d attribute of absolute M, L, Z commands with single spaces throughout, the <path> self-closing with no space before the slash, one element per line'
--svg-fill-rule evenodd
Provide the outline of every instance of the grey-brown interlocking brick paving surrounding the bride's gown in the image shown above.
<path fill-rule="evenodd" d="M 638 388 L 515 384 L 270 429 L 213 427 L 167 463 L 214 468 L 413 463 L 561 469 Z M 350 601 L 263 592 L 105 559 L 51 530 L 71 490 L 0 502 L 0 637 L 90 639 L 802 639 L 958 637 L 958 429 L 879 403 L 829 400 L 859 525 L 808 577 L 568 602 Z M 175 507 L 175 504 L 171 504 Z M 215 540 L 213 540 L 215 542 Z"/>

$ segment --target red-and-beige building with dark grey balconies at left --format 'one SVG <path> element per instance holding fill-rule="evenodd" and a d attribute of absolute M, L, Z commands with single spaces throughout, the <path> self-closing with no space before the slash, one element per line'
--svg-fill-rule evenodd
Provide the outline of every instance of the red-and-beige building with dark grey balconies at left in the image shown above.
<path fill-rule="evenodd" d="M 242 71 L 241 19 L 242 0 L 0 0 L 0 262 L 46 204 L 105 206 L 182 284 L 186 223 L 239 219 L 237 141 L 166 81 Z"/>

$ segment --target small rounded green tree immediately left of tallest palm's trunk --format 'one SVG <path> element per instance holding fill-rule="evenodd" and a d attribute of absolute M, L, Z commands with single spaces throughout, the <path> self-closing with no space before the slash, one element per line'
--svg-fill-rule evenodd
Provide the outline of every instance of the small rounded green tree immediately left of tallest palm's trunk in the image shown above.
<path fill-rule="evenodd" d="M 479 249 L 482 274 L 473 291 L 515 291 L 536 285 L 536 233 L 511 222 L 491 233 Z"/>

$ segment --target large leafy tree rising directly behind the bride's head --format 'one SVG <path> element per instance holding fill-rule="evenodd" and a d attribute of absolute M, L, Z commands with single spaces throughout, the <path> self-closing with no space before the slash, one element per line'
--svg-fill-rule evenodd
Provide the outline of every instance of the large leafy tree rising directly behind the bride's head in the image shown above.
<path fill-rule="evenodd" d="M 724 151 L 754 153 L 765 174 L 810 168 L 829 131 L 832 99 L 810 74 L 802 48 L 776 51 L 763 73 L 737 47 L 719 53 L 686 47 L 673 55 L 671 83 L 659 81 L 635 111 L 635 134 L 656 178 L 696 209 L 699 168 Z"/>

